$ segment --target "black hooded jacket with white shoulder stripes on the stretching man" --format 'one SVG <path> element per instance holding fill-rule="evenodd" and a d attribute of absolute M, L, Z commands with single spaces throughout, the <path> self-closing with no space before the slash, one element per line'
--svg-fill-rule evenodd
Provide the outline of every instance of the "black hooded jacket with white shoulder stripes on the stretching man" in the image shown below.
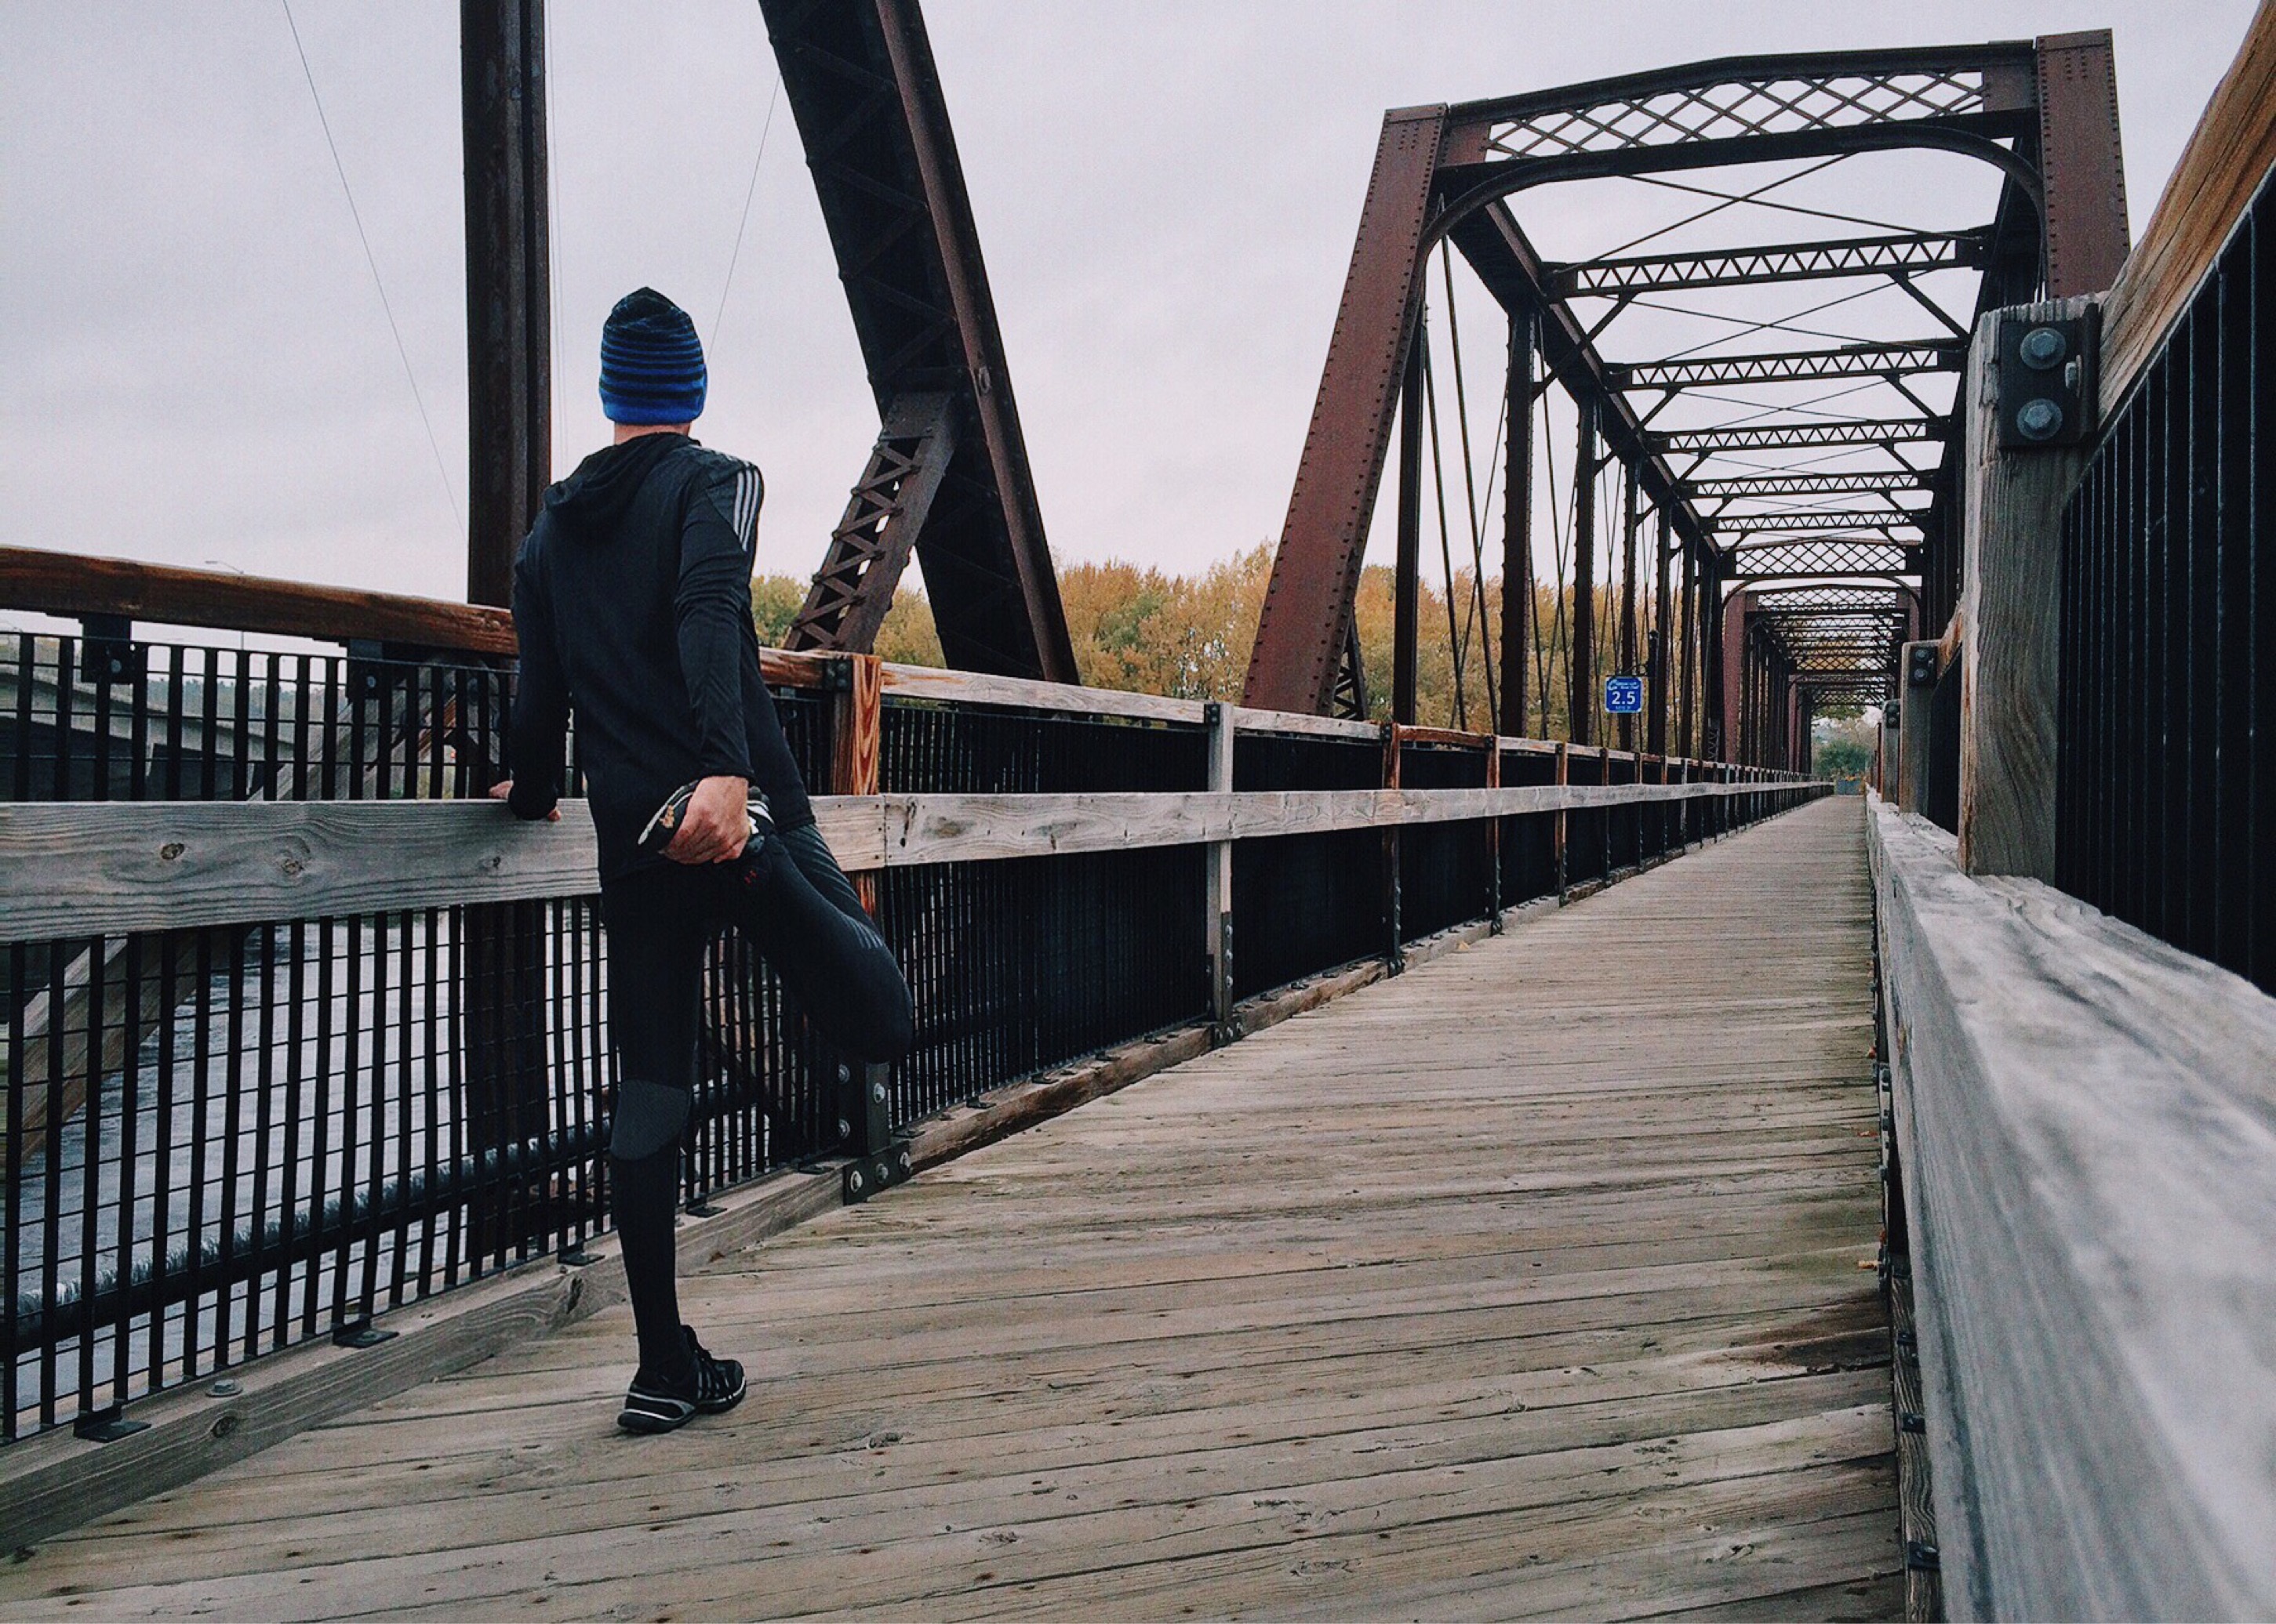
<path fill-rule="evenodd" d="M 596 450 L 546 491 L 514 564 L 514 814 L 553 810 L 576 707 L 601 878 L 662 862 L 640 830 L 692 778 L 747 778 L 778 828 L 813 821 L 758 673 L 758 469 L 685 434 Z"/>

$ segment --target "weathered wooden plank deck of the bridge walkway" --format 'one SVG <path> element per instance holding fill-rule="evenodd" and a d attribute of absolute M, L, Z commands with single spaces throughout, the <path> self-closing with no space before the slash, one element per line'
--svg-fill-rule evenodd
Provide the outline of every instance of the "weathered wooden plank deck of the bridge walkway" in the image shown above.
<path fill-rule="evenodd" d="M 1900 1613 L 1821 801 L 0 1567 L 9 1617 Z"/>

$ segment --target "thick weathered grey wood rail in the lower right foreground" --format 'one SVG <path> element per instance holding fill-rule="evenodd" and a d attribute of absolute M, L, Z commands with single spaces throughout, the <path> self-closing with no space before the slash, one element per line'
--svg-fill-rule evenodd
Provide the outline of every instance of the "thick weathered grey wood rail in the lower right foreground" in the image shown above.
<path fill-rule="evenodd" d="M 1948 1608 L 2276 1613 L 2276 999 L 1871 830 Z"/>

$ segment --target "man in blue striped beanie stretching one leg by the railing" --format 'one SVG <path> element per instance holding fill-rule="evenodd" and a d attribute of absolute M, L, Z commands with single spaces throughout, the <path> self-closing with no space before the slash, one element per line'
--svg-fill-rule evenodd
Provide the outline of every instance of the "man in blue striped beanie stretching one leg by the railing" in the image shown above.
<path fill-rule="evenodd" d="M 703 346 L 653 289 L 601 330 L 617 441 L 546 491 L 514 564 L 517 817 L 560 817 L 562 735 L 601 846 L 617 1051 L 610 1185 L 640 1372 L 617 1424 L 669 1433 L 742 1401 L 742 1365 L 681 1324 L 671 1226 L 696 1080 L 703 948 L 733 923 L 815 1030 L 856 1060 L 910 1044 L 908 983 L 815 828 L 758 673 L 751 548 L 758 469 L 706 450 Z"/>

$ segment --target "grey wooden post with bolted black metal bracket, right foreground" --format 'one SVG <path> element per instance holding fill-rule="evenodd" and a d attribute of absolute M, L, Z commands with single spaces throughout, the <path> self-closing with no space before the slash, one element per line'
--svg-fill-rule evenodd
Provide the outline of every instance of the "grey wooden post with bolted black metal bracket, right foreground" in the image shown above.
<path fill-rule="evenodd" d="M 1998 332 L 2003 323 L 2039 321 L 2087 321 L 2092 332 L 2096 307 L 2094 298 L 2062 298 L 1991 312 L 1969 343 L 1960 396 L 1966 414 L 1960 867 L 1966 873 L 2055 878 L 2062 503 L 2085 466 L 2085 446 L 2001 450 Z M 2087 348 L 2092 371 L 2092 341 Z M 2094 398 L 2092 378 L 2085 396 Z"/>

